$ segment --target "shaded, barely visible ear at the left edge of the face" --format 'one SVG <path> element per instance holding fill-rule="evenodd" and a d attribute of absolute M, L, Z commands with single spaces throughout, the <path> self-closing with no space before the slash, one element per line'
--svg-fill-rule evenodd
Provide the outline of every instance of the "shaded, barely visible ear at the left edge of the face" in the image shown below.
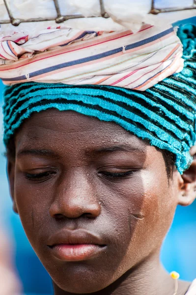
<path fill-rule="evenodd" d="M 7 159 L 7 176 L 9 182 L 9 192 L 13 201 L 13 210 L 18 213 L 18 209 L 15 202 L 14 196 L 14 181 L 15 181 L 15 160 L 8 158 Z"/>

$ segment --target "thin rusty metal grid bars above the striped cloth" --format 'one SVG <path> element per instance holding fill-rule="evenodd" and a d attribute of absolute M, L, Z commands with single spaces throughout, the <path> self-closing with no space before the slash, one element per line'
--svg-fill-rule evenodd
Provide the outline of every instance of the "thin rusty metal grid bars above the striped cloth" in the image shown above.
<path fill-rule="evenodd" d="M 56 21 L 56 24 L 63 23 L 69 19 L 76 19 L 76 18 L 84 18 L 84 15 L 82 14 L 72 14 L 72 15 L 62 15 L 60 12 L 60 7 L 58 0 L 53 0 L 55 3 L 55 9 L 56 9 L 56 18 L 29 18 L 29 19 L 19 19 L 15 18 L 12 14 L 11 8 L 7 2 L 7 0 L 3 0 L 6 10 L 9 15 L 9 20 L 0 20 L 0 24 L 12 24 L 13 26 L 17 27 L 21 23 L 31 23 L 31 22 L 44 22 L 44 21 Z M 100 17 L 103 18 L 109 18 L 109 15 L 106 13 L 104 8 L 104 0 L 100 1 Z M 165 8 L 165 9 L 157 9 L 155 7 L 155 0 L 152 0 L 151 10 L 149 13 L 151 14 L 159 14 L 164 12 L 172 12 L 172 11 L 181 11 L 181 10 L 188 10 L 188 9 L 196 9 L 196 0 L 193 0 L 193 5 L 190 7 L 175 7 L 175 8 Z M 93 17 L 93 16 L 91 16 Z"/>

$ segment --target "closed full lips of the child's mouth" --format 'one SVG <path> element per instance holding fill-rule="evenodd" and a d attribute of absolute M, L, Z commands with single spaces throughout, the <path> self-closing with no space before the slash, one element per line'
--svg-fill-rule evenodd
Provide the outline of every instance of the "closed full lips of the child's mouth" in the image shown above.
<path fill-rule="evenodd" d="M 98 237 L 84 230 L 63 230 L 49 238 L 52 254 L 61 261 L 74 262 L 95 258 L 106 247 Z"/>

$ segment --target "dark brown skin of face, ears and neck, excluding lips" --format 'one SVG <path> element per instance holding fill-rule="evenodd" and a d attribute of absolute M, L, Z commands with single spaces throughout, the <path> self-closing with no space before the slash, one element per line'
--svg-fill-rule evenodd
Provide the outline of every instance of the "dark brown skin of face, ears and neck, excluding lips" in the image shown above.
<path fill-rule="evenodd" d="M 196 163 L 168 177 L 158 150 L 113 122 L 47 110 L 25 121 L 8 156 L 10 191 L 55 295 L 173 295 L 159 261 L 176 206 L 195 199 Z M 195 153 L 192 150 L 192 153 Z M 99 236 L 104 250 L 80 262 L 48 245 L 62 229 Z M 179 281 L 177 295 L 190 283 Z"/>

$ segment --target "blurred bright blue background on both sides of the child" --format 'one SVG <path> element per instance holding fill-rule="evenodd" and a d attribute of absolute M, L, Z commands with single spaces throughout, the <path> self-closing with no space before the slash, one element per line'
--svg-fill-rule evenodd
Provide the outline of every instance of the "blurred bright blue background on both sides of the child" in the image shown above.
<path fill-rule="evenodd" d="M 196 18 L 191 22 L 196 23 Z M 52 294 L 49 275 L 34 254 L 22 228 L 19 216 L 12 211 L 2 143 L 2 98 L 0 83 L 0 216 L 15 242 L 14 260 L 26 294 Z M 161 259 L 170 272 L 176 270 L 184 280 L 196 278 L 196 202 L 177 207 L 172 227 L 164 242 Z"/>

